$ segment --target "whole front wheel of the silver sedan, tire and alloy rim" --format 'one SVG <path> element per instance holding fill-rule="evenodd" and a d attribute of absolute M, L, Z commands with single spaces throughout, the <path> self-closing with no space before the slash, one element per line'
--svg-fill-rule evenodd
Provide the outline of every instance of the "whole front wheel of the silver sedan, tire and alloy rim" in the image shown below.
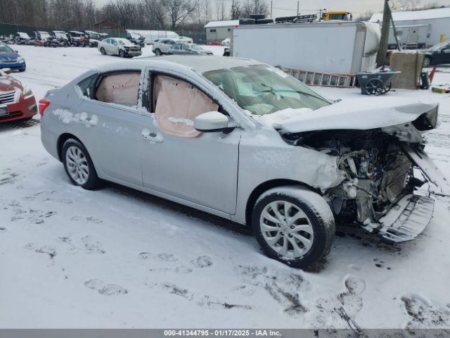
<path fill-rule="evenodd" d="M 252 227 L 267 256 L 294 268 L 306 268 L 326 256 L 335 234 L 330 206 L 303 187 L 262 194 L 253 208 Z"/>

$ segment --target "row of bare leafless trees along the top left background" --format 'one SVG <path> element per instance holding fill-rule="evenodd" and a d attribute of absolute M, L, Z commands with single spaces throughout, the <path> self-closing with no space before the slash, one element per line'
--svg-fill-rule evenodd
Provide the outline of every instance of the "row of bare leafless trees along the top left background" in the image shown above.
<path fill-rule="evenodd" d="M 1 0 L 0 22 L 82 30 L 109 21 L 142 30 L 203 30 L 211 20 L 269 13 L 266 0 Z"/>

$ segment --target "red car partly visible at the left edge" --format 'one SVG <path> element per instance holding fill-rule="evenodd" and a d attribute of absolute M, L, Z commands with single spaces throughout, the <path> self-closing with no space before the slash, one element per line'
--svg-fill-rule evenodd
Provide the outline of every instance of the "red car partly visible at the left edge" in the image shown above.
<path fill-rule="evenodd" d="M 0 123 L 30 120 L 37 113 L 34 94 L 9 74 L 10 69 L 0 69 Z"/>

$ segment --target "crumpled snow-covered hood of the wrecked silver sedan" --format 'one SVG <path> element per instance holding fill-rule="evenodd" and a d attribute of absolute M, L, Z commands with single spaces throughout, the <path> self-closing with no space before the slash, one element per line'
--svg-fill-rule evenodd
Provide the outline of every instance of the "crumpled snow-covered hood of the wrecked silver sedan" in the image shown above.
<path fill-rule="evenodd" d="M 437 104 L 423 104 L 390 96 L 361 96 L 358 99 L 343 100 L 316 111 L 300 109 L 298 115 L 286 120 L 274 121 L 273 125 L 283 132 L 369 130 L 412 122 L 436 107 Z"/>

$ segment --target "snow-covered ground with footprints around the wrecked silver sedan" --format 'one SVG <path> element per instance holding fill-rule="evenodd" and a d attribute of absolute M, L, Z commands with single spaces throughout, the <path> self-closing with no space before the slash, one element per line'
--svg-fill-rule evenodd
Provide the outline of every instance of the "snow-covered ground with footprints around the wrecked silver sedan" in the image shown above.
<path fill-rule="evenodd" d="M 121 60 L 96 49 L 15 49 L 28 67 L 15 75 L 37 99 Z M 450 83 L 450 68 L 439 70 L 435 83 Z M 387 95 L 439 101 L 442 125 L 427 150 L 449 177 L 449 94 Z M 399 246 L 338 227 L 326 261 L 302 271 L 266 258 L 250 232 L 225 220 L 115 184 L 72 186 L 39 135 L 39 118 L 0 125 L 0 328 L 348 328 L 348 318 L 363 328 L 450 327 L 448 199 Z"/>

